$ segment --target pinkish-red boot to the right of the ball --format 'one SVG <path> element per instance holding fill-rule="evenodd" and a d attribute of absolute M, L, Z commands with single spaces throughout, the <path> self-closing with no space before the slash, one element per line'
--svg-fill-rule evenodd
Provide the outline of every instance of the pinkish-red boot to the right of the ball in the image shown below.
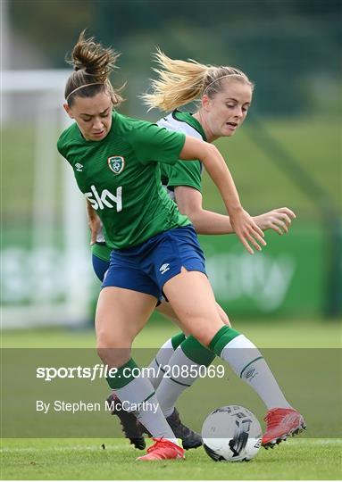
<path fill-rule="evenodd" d="M 306 428 L 302 415 L 295 409 L 271 409 L 263 420 L 267 424 L 262 441 L 266 449 L 273 448 L 288 436 L 295 436 Z"/>

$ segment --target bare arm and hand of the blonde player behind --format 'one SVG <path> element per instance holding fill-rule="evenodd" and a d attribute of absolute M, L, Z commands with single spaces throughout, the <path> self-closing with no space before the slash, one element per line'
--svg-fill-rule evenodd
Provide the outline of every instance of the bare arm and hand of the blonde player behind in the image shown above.
<path fill-rule="evenodd" d="M 202 194 L 194 187 L 177 186 L 174 195 L 179 212 L 188 216 L 198 234 L 221 235 L 234 232 L 229 216 L 203 208 Z M 288 232 L 291 220 L 295 218 L 295 213 L 284 207 L 254 216 L 253 220 L 263 231 L 273 229 L 282 235 Z"/>

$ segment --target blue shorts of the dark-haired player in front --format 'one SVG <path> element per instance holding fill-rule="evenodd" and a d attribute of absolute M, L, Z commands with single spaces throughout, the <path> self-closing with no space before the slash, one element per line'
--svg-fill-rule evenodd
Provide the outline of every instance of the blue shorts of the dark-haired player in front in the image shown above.
<path fill-rule="evenodd" d="M 192 226 L 170 229 L 128 249 L 113 250 L 102 287 L 132 289 L 158 299 L 163 286 L 180 273 L 205 273 L 204 253 Z"/>

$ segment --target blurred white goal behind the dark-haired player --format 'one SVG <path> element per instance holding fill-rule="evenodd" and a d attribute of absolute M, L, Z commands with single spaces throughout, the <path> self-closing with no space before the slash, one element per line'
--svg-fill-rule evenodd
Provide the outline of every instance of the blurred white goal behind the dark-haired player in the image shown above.
<path fill-rule="evenodd" d="M 63 111 L 69 74 L 2 72 L 3 328 L 79 325 L 93 316 L 86 203 L 56 150 L 70 121 Z"/>

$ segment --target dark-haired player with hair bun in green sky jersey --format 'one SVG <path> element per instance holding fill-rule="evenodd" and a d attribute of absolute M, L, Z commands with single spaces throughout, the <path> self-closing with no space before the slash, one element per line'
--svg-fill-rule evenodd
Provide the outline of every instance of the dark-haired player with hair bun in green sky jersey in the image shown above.
<path fill-rule="evenodd" d="M 253 253 L 252 246 L 260 250 L 265 242 L 263 231 L 242 208 L 229 170 L 213 145 L 112 112 L 121 100 L 108 78 L 116 57 L 112 49 L 84 34 L 79 37 L 64 104 L 76 122 L 63 132 L 58 149 L 99 214 L 106 243 L 113 248 L 96 308 L 97 352 L 115 369 L 108 384 L 154 436 L 154 445 L 140 460 L 184 458 L 153 385 L 137 376 L 132 341 L 162 291 L 179 325 L 223 360 L 229 361 L 229 344 L 239 333 L 221 321 L 196 232 L 163 190 L 159 162 L 203 162 L 247 251 Z M 244 356 L 239 362 L 252 366 L 254 359 Z M 241 356 L 235 358 L 238 362 Z"/>

